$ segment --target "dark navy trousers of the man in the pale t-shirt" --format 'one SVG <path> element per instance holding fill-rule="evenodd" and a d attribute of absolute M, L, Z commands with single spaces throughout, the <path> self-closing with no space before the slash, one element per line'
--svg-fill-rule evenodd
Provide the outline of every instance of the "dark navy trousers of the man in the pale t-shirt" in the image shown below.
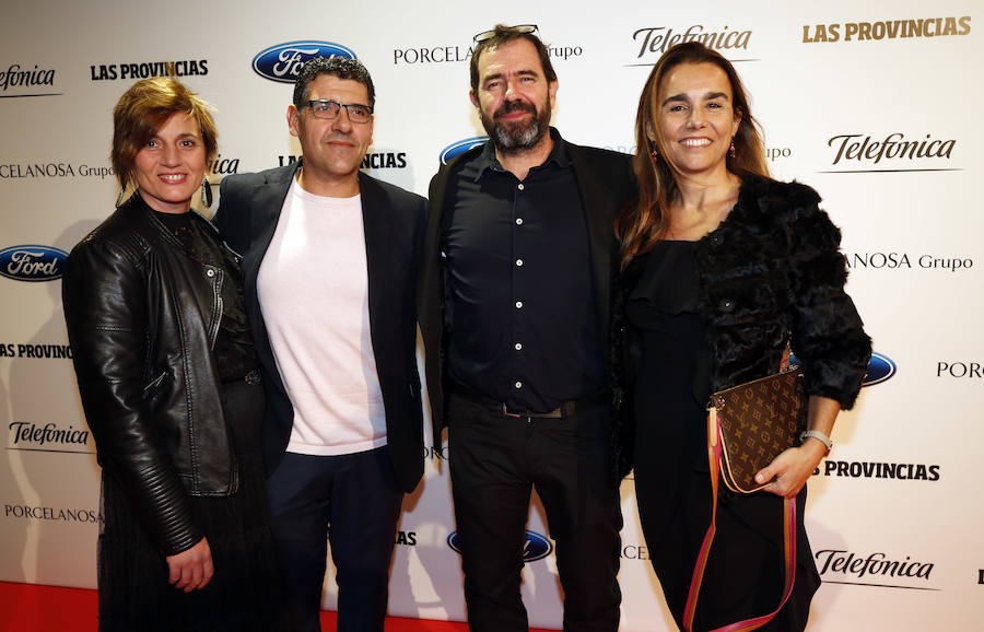
<path fill-rule="evenodd" d="M 330 540 L 339 632 L 383 632 L 403 499 L 388 448 L 340 456 L 286 453 L 267 490 L 295 630 L 321 629 Z"/>

